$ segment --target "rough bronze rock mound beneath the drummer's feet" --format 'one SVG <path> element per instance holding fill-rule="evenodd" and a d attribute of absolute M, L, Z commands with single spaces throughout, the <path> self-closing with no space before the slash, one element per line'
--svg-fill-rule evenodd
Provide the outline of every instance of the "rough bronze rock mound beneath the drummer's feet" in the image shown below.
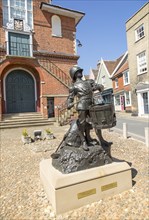
<path fill-rule="evenodd" d="M 100 145 L 88 149 L 65 146 L 58 151 L 58 158 L 52 159 L 52 165 L 61 173 L 68 174 L 112 163 L 112 158 Z"/>

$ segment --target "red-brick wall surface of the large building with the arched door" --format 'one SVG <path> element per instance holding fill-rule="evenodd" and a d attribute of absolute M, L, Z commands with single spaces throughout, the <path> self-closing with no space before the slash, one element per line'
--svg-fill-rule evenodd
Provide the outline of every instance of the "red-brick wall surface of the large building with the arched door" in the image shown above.
<path fill-rule="evenodd" d="M 48 3 L 48 0 L 42 1 Z M 7 57 L 0 66 L 1 75 L 1 104 L 0 111 L 6 113 L 4 100 L 4 79 L 6 74 L 14 68 L 23 68 L 31 73 L 36 80 L 37 108 L 44 117 L 48 117 L 47 98 L 54 98 L 55 116 L 60 106 L 68 96 L 68 88 L 55 77 L 44 70 L 38 62 L 38 58 L 46 58 L 57 65 L 63 72 L 69 75 L 69 69 L 77 64 L 79 56 L 74 53 L 74 32 L 76 32 L 75 20 L 73 18 L 59 16 L 62 25 L 62 37 L 53 37 L 51 29 L 52 13 L 40 9 L 41 1 L 33 1 L 33 45 L 34 58 Z M 0 1 L 0 46 L 5 43 L 5 30 L 2 28 L 2 1 Z M 0 56 L 6 55 L 4 49 L 0 50 Z M 1 57 L 0 57 L 1 58 Z M 0 115 L 1 115 L 0 112 Z"/>

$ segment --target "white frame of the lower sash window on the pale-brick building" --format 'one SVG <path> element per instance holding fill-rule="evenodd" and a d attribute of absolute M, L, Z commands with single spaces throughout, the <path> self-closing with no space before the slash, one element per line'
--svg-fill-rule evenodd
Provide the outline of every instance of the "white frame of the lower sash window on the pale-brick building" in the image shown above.
<path fill-rule="evenodd" d="M 144 63 L 141 62 L 141 54 L 144 53 Z M 143 59 L 143 58 L 142 58 Z M 144 65 L 145 67 L 141 68 L 141 65 Z M 146 51 L 142 51 L 141 53 L 137 54 L 137 75 L 141 75 L 147 72 L 147 59 L 146 59 Z M 141 71 L 145 69 L 144 71 Z"/>

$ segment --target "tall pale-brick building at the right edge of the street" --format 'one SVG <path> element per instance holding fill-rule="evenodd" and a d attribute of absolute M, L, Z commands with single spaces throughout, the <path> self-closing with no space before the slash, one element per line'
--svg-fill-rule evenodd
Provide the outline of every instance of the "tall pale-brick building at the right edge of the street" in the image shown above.
<path fill-rule="evenodd" d="M 149 3 L 126 22 L 134 115 L 149 114 Z"/>

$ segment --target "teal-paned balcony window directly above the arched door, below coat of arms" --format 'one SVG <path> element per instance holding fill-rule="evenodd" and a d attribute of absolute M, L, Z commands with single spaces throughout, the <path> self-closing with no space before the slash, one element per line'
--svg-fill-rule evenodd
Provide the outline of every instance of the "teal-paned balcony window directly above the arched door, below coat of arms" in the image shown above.
<path fill-rule="evenodd" d="M 9 33 L 9 55 L 14 56 L 31 56 L 29 35 Z"/>

